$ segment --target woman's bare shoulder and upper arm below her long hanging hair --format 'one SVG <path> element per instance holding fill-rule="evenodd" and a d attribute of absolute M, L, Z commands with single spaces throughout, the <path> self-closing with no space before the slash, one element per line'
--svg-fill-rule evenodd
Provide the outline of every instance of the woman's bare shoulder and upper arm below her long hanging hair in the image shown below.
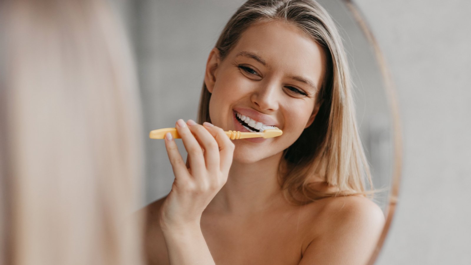
<path fill-rule="evenodd" d="M 304 264 L 365 264 L 381 235 L 384 215 L 373 201 L 360 196 L 321 199 L 313 217 Z"/>

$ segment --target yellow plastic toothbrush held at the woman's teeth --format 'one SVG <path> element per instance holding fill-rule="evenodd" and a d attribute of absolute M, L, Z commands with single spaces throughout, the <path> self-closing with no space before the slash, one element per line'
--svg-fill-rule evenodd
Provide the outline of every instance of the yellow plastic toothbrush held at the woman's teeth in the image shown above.
<path fill-rule="evenodd" d="M 256 138 L 256 137 L 272 138 L 272 137 L 280 136 L 281 134 L 283 134 L 283 131 L 281 131 L 280 129 L 274 126 L 270 126 L 269 128 L 270 129 L 265 129 L 263 132 L 227 131 L 226 135 L 230 139 L 235 140 L 235 139 Z M 150 139 L 163 139 L 167 132 L 170 132 L 174 139 L 181 138 L 176 128 L 163 128 L 163 129 L 151 131 L 149 133 L 149 138 Z"/>

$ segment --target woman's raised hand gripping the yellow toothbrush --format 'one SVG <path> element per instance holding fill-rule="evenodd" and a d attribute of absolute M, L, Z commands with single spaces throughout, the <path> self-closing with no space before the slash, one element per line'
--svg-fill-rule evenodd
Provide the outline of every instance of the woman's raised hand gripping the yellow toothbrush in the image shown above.
<path fill-rule="evenodd" d="M 168 133 L 165 147 L 175 180 L 161 207 L 162 230 L 200 227 L 203 210 L 227 181 L 234 153 L 234 144 L 226 133 L 210 123 L 203 126 L 188 120 L 185 124 L 179 119 L 176 128 L 188 157 L 185 164 Z"/>

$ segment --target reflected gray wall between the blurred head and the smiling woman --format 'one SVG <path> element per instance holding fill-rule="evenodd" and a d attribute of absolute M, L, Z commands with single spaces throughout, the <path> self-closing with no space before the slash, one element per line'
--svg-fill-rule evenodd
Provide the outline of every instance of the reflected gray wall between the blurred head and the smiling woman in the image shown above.
<path fill-rule="evenodd" d="M 138 59 L 144 132 L 196 120 L 206 59 L 242 1 L 133 1 L 130 18 Z M 143 205 L 171 190 L 173 172 L 163 141 L 146 138 Z M 186 151 L 177 141 L 179 151 Z"/>

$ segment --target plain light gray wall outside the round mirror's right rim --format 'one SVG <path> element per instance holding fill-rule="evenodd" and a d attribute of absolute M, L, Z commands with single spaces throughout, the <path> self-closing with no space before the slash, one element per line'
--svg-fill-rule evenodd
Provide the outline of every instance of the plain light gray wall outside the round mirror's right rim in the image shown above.
<path fill-rule="evenodd" d="M 471 264 L 471 2 L 356 0 L 397 87 L 403 173 L 379 265 Z"/>

